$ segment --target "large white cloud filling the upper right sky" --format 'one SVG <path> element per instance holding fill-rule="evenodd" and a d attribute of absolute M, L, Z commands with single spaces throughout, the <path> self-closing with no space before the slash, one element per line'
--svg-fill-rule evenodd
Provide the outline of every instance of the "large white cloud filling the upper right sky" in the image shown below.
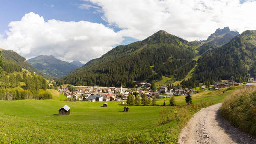
<path fill-rule="evenodd" d="M 86 0 L 89 1 L 89 0 Z M 165 30 L 186 40 L 202 40 L 218 27 L 240 33 L 256 29 L 256 1 L 247 0 L 90 0 L 123 36 L 145 39 Z"/>

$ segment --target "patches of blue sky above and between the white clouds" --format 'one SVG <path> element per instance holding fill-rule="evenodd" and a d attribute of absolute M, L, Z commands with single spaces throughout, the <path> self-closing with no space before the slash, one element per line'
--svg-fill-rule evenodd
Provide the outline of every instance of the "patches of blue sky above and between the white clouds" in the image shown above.
<path fill-rule="evenodd" d="M 102 12 L 95 8 L 81 9 L 79 5 L 91 2 L 81 0 L 1 0 L 0 4 L 0 34 L 8 30 L 11 21 L 19 21 L 26 13 L 34 12 L 43 16 L 45 21 L 50 19 L 60 21 L 89 21 L 104 24 L 115 32 L 121 29 L 109 25 L 101 17 Z M 137 41 L 132 37 L 124 37 L 122 44 Z M 118 45 L 118 44 L 116 44 Z M 114 46 L 116 46 L 114 45 Z"/>

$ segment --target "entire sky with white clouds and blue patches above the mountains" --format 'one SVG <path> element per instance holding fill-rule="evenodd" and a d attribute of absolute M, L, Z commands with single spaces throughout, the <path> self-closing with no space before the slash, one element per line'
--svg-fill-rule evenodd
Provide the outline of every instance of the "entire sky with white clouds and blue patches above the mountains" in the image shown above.
<path fill-rule="evenodd" d="M 86 63 L 159 30 L 204 40 L 256 30 L 256 0 L 0 0 L 0 48 Z"/>

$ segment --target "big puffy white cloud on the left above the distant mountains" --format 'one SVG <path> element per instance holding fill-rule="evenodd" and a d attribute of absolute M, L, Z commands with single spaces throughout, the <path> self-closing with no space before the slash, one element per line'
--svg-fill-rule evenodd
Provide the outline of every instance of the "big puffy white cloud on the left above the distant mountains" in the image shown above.
<path fill-rule="evenodd" d="M 45 21 L 30 12 L 20 21 L 11 22 L 6 37 L 0 36 L 0 48 L 12 49 L 26 58 L 41 54 L 61 60 L 87 62 L 102 56 L 122 42 L 119 33 L 103 24 L 87 21 Z"/>

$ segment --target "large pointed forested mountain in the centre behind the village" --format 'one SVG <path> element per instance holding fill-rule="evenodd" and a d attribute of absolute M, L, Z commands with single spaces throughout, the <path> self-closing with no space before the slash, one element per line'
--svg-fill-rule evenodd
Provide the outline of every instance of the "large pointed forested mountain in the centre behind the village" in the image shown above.
<path fill-rule="evenodd" d="M 194 42 L 158 31 L 143 41 L 120 45 L 65 76 L 59 84 L 126 86 L 156 81 L 162 75 L 181 80 L 196 61 Z M 188 61 L 190 65 L 182 67 Z M 131 86 L 132 87 L 132 86 Z"/>

